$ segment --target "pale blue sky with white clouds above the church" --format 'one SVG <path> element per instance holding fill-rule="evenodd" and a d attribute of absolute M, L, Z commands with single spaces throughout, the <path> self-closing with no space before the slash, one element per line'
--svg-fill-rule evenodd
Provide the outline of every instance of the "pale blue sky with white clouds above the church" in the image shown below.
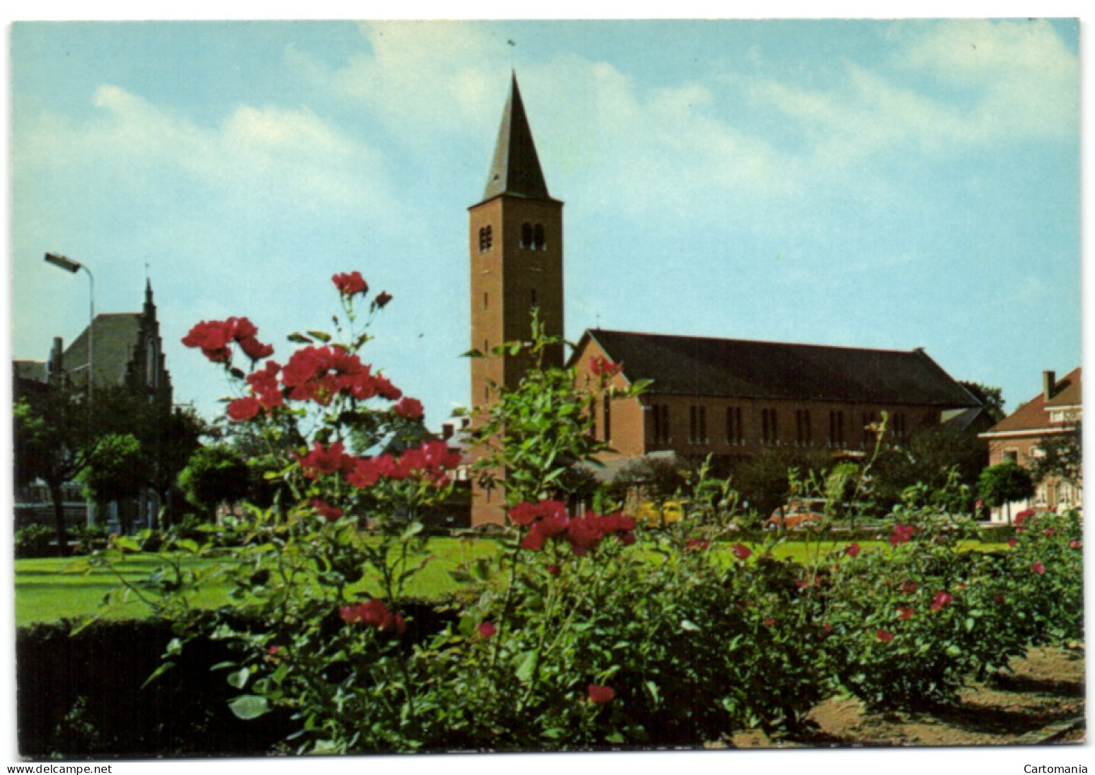
<path fill-rule="evenodd" d="M 155 290 L 180 344 L 322 327 L 330 277 L 394 301 L 367 360 L 437 428 L 469 401 L 466 208 L 516 68 L 566 203 L 566 334 L 911 349 L 1014 409 L 1081 358 L 1075 21 L 21 23 L 12 355 Z M 507 42 L 514 41 L 516 46 Z M 283 360 L 284 362 L 284 360 Z"/>

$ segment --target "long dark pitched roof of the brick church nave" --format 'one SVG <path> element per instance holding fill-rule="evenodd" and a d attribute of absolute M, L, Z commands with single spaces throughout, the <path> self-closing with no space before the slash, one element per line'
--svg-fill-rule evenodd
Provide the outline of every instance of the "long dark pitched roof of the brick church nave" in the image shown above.
<path fill-rule="evenodd" d="M 793 401 L 979 406 L 923 350 L 587 331 L 652 393 Z M 579 344 L 579 349 L 581 345 Z"/>

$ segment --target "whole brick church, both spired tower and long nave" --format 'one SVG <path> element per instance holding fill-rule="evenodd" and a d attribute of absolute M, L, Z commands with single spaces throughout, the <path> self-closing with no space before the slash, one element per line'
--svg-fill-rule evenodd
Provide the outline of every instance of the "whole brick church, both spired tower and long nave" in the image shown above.
<path fill-rule="evenodd" d="M 535 308 L 549 336 L 563 336 L 563 203 L 540 166 L 517 77 L 480 201 L 469 208 L 471 346 L 483 352 L 531 336 Z M 902 438 L 981 409 L 973 395 L 923 349 L 909 351 L 586 329 L 568 359 L 592 379 L 590 363 L 620 363 L 625 386 L 649 380 L 638 398 L 606 401 L 597 433 L 610 442 L 607 464 L 650 453 L 729 461 L 779 447 L 817 447 L 834 456 L 863 454 L 871 427 L 889 417 Z M 473 404 L 489 404 L 493 383 L 515 388 L 523 365 L 510 356 L 473 358 Z M 493 497 L 493 502 L 491 498 Z M 471 522 L 502 522 L 502 498 L 472 490 Z"/>

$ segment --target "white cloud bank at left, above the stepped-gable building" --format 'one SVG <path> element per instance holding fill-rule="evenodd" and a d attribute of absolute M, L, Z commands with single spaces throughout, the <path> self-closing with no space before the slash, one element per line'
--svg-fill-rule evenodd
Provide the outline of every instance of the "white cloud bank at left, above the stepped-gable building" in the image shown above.
<path fill-rule="evenodd" d="M 337 208 L 372 212 L 378 225 L 395 215 L 383 159 L 307 108 L 239 105 L 204 127 L 115 85 L 100 86 L 94 105 L 85 124 L 43 115 L 26 127 L 15 143 L 26 196 L 41 166 L 99 180 L 119 197 L 197 185 L 220 207 Z"/>

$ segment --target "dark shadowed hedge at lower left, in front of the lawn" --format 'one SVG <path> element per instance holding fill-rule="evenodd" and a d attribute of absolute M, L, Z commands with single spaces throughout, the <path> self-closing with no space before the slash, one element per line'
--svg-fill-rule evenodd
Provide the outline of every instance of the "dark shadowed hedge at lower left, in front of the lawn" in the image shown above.
<path fill-rule="evenodd" d="M 438 632 L 433 606 L 406 606 L 413 637 Z M 15 637 L 20 755 L 32 760 L 255 756 L 278 752 L 297 727 L 275 710 L 238 719 L 239 692 L 212 664 L 231 659 L 222 641 L 186 644 L 175 667 L 148 685 L 173 637 L 169 622 L 99 621 L 72 635 L 69 621 L 20 628 Z M 286 752 L 291 749 L 284 748 Z"/>

